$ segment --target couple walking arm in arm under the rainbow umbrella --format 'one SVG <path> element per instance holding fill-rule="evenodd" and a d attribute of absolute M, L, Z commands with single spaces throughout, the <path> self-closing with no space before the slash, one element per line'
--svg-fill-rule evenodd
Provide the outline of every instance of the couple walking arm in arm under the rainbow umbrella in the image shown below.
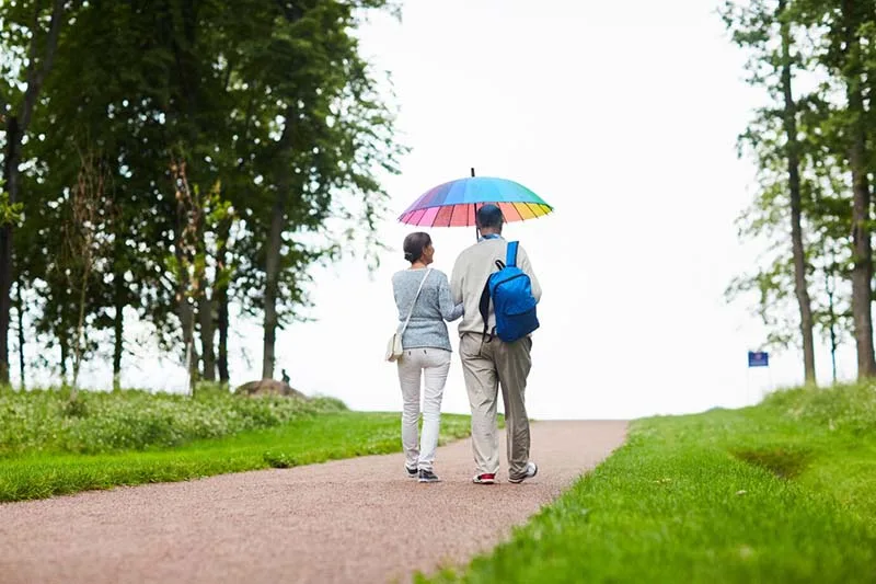
<path fill-rule="evenodd" d="M 405 470 L 408 477 L 418 478 L 420 482 L 439 480 L 434 461 L 451 355 L 445 321 L 460 317 L 459 353 L 472 411 L 476 468 L 473 482 L 496 482 L 499 387 L 505 405 L 508 480 L 519 483 L 538 472 L 538 467 L 529 459 L 525 392 L 532 365 L 529 333 L 538 328 L 535 302 L 541 297 L 541 288 L 526 251 L 517 242 L 508 243 L 503 239 L 502 210 L 495 205 L 484 205 L 477 209 L 475 221 L 479 242 L 459 255 L 449 282 L 443 273 L 429 267 L 435 248 L 429 234 L 424 232 L 405 238 L 405 260 L 411 262 L 411 267 L 392 278 L 403 322 L 397 367 L 404 402 Z M 423 432 L 417 440 L 420 387 Z"/>

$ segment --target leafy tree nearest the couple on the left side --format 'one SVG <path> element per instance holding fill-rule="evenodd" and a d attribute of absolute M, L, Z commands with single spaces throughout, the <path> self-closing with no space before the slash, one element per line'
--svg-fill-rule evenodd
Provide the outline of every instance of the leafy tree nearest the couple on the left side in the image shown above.
<path fill-rule="evenodd" d="M 281 307 L 306 299 L 308 265 L 338 252 L 332 241 L 304 242 L 327 236 L 338 193 L 361 198 L 356 219 L 372 231 L 385 201 L 374 170 L 397 172 L 403 149 L 392 141 L 392 112 L 350 34 L 358 10 L 387 7 L 378 0 L 277 4 L 243 33 L 252 42 L 238 58 L 231 89 L 272 96 L 254 110 L 267 123 L 251 126 L 258 147 L 247 161 L 267 195 L 250 220 L 253 251 L 264 263 L 251 265 L 255 273 L 246 276 L 264 290 L 251 299 L 264 312 L 264 378 L 274 375 L 276 331 L 286 320 Z"/>

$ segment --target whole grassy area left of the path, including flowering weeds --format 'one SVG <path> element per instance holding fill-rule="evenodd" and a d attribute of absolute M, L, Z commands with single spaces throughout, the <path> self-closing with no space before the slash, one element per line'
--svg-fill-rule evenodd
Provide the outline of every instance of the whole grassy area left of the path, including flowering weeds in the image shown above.
<path fill-rule="evenodd" d="M 441 416 L 441 443 L 469 431 Z M 400 414 L 331 398 L 0 391 L 0 502 L 400 450 Z"/>

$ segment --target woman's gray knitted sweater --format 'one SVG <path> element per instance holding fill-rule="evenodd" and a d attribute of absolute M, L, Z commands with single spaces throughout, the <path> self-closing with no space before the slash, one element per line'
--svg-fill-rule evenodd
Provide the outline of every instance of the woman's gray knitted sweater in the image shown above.
<path fill-rule="evenodd" d="M 392 276 L 400 330 L 407 318 L 411 302 L 425 275 L 426 270 L 402 270 Z M 447 275 L 439 270 L 433 270 L 419 291 L 411 322 L 402 335 L 402 346 L 404 348 L 433 347 L 451 351 L 450 336 L 447 333 L 445 321 L 454 321 L 461 316 L 462 305 L 453 305 Z"/>

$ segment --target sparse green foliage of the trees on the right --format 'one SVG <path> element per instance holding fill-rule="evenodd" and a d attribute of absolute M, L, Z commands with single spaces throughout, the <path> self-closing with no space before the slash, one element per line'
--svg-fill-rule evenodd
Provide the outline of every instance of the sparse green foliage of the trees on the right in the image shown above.
<path fill-rule="evenodd" d="M 863 131 L 868 142 L 876 129 L 869 108 L 855 108 L 849 101 L 862 73 L 869 79 L 876 71 L 876 12 L 866 7 L 873 2 L 728 0 L 721 11 L 731 41 L 748 57 L 747 81 L 764 96 L 739 136 L 740 157 L 749 157 L 757 168 L 758 193 L 738 220 L 740 238 L 758 242 L 763 253 L 754 270 L 730 284 L 727 298 L 750 302 L 769 331 L 764 345 L 773 348 L 802 345 L 788 229 L 792 154 L 799 162 L 805 276 L 816 330 L 825 339 L 835 334 L 838 342 L 854 332 L 849 157 L 856 133 Z M 851 49 L 844 50 L 845 45 Z M 791 108 L 783 94 L 784 66 L 789 68 Z M 788 139 L 789 121 L 796 124 L 795 140 Z M 867 169 L 874 162 L 866 154 Z M 868 220 L 864 224 L 872 227 Z"/>

